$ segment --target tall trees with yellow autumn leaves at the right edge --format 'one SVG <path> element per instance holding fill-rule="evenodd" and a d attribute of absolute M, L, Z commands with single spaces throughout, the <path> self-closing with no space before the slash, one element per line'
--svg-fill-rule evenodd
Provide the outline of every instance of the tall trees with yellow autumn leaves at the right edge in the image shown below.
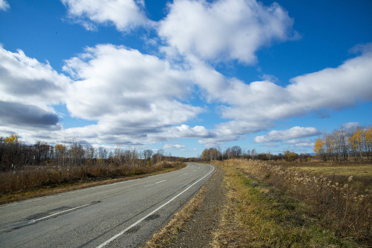
<path fill-rule="evenodd" d="M 372 126 L 341 128 L 318 137 L 314 152 L 321 161 L 372 160 Z"/>

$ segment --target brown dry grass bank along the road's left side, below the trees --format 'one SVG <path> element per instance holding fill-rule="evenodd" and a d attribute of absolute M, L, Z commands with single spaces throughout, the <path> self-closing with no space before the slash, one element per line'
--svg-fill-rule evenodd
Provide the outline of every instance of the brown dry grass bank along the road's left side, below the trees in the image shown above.
<path fill-rule="evenodd" d="M 184 166 L 184 163 L 169 161 L 147 167 L 110 164 L 70 168 L 27 166 L 15 173 L 0 173 L 0 204 L 170 172 Z"/>

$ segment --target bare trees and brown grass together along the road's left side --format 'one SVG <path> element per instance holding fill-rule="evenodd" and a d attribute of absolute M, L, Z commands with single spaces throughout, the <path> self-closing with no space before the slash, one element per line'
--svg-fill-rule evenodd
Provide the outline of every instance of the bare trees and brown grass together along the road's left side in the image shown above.
<path fill-rule="evenodd" d="M 167 172 L 184 161 L 162 149 L 154 153 L 121 144 L 110 152 L 84 148 L 75 136 L 55 146 L 44 141 L 28 146 L 12 134 L 0 137 L 0 204 Z"/>

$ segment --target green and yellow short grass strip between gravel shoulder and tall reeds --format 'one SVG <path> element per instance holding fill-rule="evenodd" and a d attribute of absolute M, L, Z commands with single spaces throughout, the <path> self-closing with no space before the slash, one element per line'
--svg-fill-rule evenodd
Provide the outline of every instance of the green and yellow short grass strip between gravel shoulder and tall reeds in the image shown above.
<path fill-rule="evenodd" d="M 300 200 L 247 173 L 246 161 L 224 164 L 228 202 L 213 247 L 362 247 L 324 228 Z"/>

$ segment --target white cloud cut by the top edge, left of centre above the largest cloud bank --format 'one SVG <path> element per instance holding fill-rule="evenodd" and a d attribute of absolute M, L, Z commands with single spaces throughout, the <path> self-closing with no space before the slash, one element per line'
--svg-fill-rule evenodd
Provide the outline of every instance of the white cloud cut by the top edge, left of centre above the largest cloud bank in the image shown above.
<path fill-rule="evenodd" d="M 68 16 L 86 29 L 95 29 L 96 23 L 110 23 L 120 31 L 149 25 L 144 14 L 143 0 L 61 0 Z"/>

